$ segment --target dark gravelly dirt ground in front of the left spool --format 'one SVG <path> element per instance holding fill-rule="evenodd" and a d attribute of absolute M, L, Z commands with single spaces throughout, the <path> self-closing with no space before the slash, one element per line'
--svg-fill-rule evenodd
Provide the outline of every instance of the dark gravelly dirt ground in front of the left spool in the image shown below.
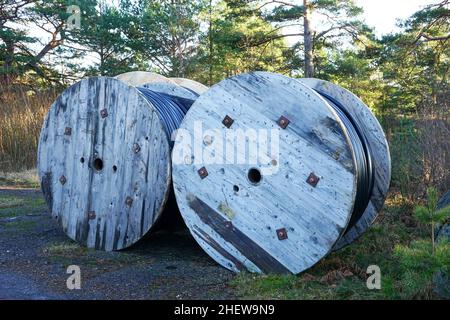
<path fill-rule="evenodd" d="M 233 299 L 233 274 L 183 227 L 121 252 L 87 250 L 51 218 L 41 192 L 0 187 L 0 299 Z M 81 289 L 67 289 L 69 265 Z"/>

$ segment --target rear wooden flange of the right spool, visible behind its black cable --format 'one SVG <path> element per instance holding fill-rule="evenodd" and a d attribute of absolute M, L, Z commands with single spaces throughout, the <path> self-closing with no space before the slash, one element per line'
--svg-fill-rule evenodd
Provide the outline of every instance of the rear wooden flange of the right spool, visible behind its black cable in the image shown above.
<path fill-rule="evenodd" d="M 375 221 L 383 207 L 391 180 L 391 158 L 383 128 L 370 109 L 352 92 L 328 81 L 319 79 L 298 79 L 302 84 L 323 92 L 341 103 L 346 111 L 364 130 L 374 158 L 374 188 L 370 203 L 358 222 L 346 231 L 336 243 L 338 250 L 361 236 Z"/>

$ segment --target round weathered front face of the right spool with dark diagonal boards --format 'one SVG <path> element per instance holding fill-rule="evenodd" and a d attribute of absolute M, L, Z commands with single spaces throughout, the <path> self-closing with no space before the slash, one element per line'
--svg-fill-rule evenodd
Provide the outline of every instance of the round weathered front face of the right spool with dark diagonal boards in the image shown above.
<path fill-rule="evenodd" d="M 180 129 L 172 154 L 178 206 L 222 266 L 296 274 L 345 234 L 358 197 L 355 146 L 335 108 L 309 85 L 265 72 L 229 78 L 196 100 Z M 228 135 L 239 130 L 273 134 L 272 142 L 279 136 L 278 148 L 237 163 L 234 156 L 249 150 Z M 274 146 L 264 135 L 245 141 Z"/>

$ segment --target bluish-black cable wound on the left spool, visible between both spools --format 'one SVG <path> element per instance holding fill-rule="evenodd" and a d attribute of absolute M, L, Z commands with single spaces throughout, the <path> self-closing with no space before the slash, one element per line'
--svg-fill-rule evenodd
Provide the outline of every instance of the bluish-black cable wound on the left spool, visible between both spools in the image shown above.
<path fill-rule="evenodd" d="M 180 127 L 181 121 L 194 100 L 156 92 L 144 87 L 137 89 L 156 108 L 168 137 L 172 138 L 173 132 Z"/>

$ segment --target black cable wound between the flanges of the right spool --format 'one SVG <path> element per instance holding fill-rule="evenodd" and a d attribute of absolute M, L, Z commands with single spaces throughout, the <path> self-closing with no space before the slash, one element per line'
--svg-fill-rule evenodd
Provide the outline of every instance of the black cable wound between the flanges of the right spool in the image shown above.
<path fill-rule="evenodd" d="M 332 97 L 319 91 L 316 92 L 325 98 L 336 111 L 338 117 L 347 129 L 350 143 L 355 154 L 357 189 L 353 213 L 347 227 L 347 230 L 350 230 L 363 215 L 372 196 L 374 186 L 372 152 L 367 137 L 364 135 L 364 131 L 358 125 L 358 122 L 346 111 L 345 107 Z"/>

